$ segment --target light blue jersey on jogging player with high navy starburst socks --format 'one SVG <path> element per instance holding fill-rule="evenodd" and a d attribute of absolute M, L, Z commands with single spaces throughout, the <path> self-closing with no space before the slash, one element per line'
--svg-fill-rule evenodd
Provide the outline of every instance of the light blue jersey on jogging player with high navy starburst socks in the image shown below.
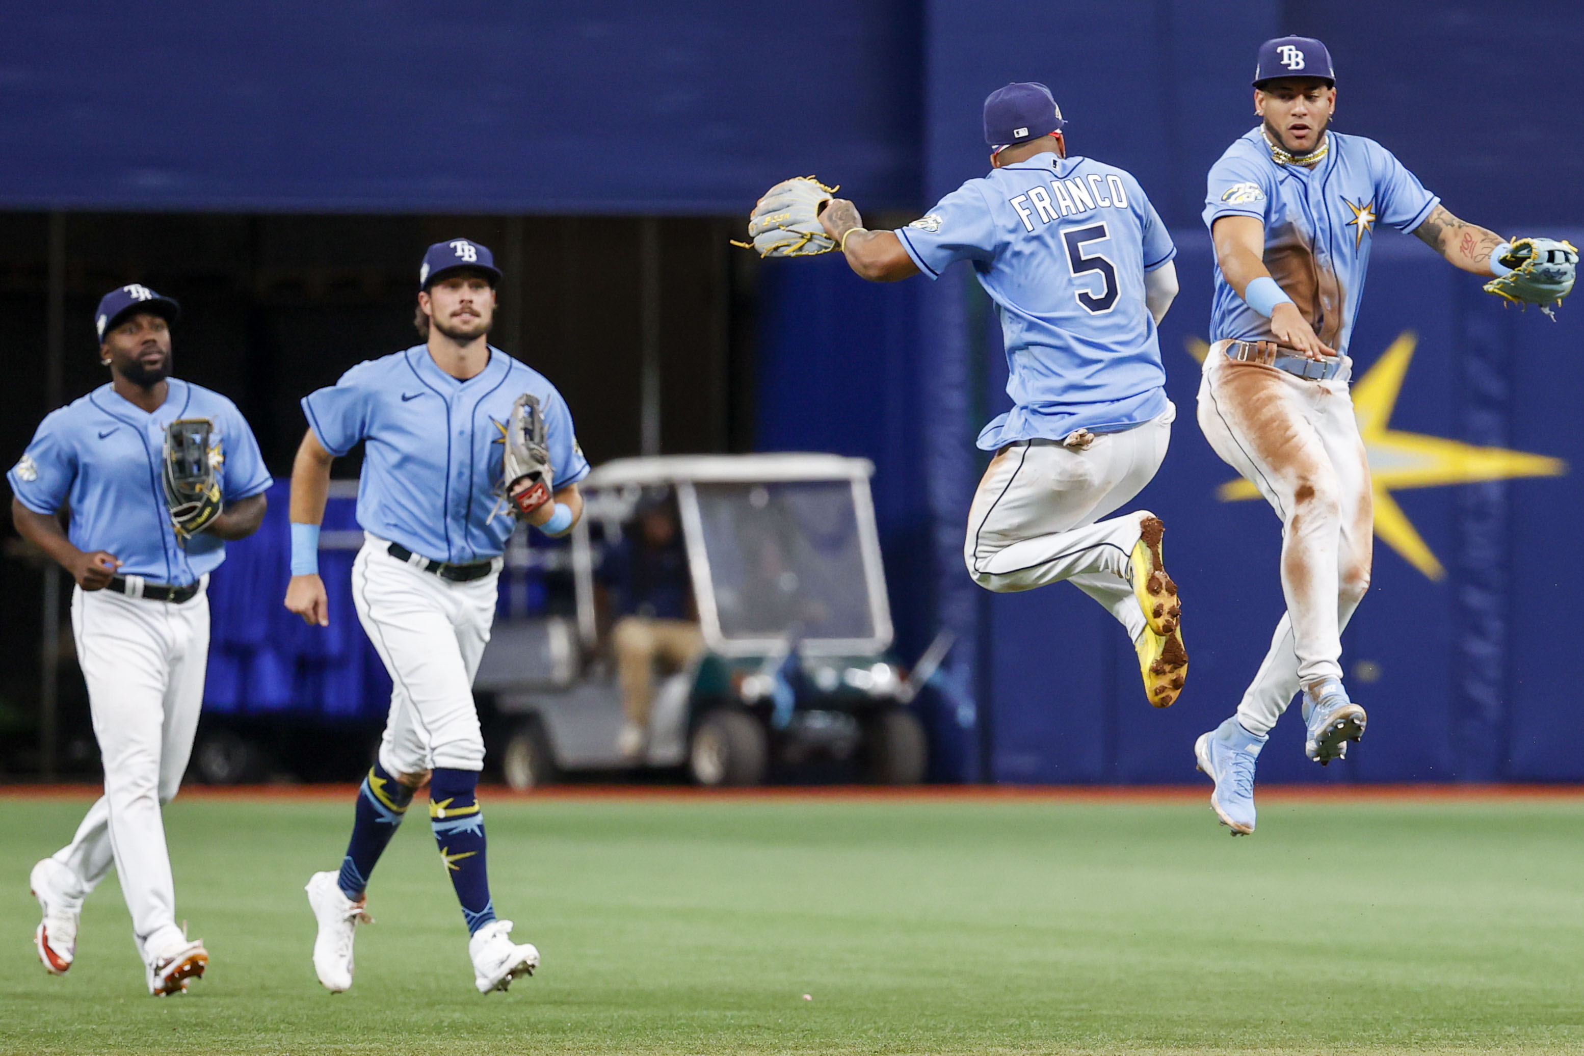
<path fill-rule="evenodd" d="M 501 502 L 502 451 L 512 404 L 539 397 L 554 488 L 588 477 L 572 412 L 545 375 L 489 348 L 482 372 L 461 382 L 426 345 L 369 359 L 303 397 L 314 435 L 331 454 L 360 440 L 358 524 L 431 560 L 496 557 L 516 527 Z"/>

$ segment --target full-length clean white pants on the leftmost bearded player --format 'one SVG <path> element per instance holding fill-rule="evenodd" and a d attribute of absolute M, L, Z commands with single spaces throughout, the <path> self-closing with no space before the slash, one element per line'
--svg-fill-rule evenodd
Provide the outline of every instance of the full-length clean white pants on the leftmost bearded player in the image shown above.
<path fill-rule="evenodd" d="M 208 587 L 208 583 L 204 583 Z M 105 795 L 55 861 L 87 895 L 111 863 L 144 961 L 176 944 L 176 883 L 160 806 L 176 796 L 192 755 L 209 663 L 209 597 L 181 605 L 112 591 L 71 592 L 78 665 L 89 687 Z"/>

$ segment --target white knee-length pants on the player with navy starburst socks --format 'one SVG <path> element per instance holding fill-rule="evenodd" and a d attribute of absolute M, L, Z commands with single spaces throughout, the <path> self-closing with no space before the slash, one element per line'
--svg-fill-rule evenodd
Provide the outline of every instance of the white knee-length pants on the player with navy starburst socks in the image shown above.
<path fill-rule="evenodd" d="M 451 583 L 396 560 L 386 540 L 364 540 L 352 562 L 352 598 L 391 676 L 380 766 L 390 774 L 483 769 L 474 674 L 494 624 L 501 559 L 482 579 Z"/>

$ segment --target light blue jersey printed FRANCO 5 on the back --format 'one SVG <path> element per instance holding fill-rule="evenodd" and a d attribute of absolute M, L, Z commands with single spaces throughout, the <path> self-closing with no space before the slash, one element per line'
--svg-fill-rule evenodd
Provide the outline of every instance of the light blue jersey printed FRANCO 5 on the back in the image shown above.
<path fill-rule="evenodd" d="M 1015 407 L 979 434 L 985 451 L 1126 429 L 1166 410 L 1144 272 L 1177 247 L 1131 174 L 1036 154 L 968 180 L 897 236 L 931 279 L 973 261 L 995 301 Z"/>

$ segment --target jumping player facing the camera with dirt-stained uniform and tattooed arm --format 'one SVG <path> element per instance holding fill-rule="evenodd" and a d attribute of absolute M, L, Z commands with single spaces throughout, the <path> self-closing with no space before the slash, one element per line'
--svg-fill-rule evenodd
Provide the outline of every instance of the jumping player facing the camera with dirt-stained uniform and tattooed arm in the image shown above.
<path fill-rule="evenodd" d="M 1560 299 L 1578 264 L 1565 242 L 1510 244 L 1459 220 L 1378 142 L 1331 131 L 1335 104 L 1324 44 L 1266 41 L 1255 71 L 1261 123 L 1210 169 L 1204 209 L 1217 268 L 1199 427 L 1283 527 L 1286 614 L 1237 714 L 1194 746 L 1232 834 L 1255 831 L 1255 762 L 1297 692 L 1315 762 L 1343 758 L 1364 735 L 1338 635 L 1370 584 L 1370 467 L 1346 353 L 1375 225 L 1411 231 L 1514 301 Z"/>

